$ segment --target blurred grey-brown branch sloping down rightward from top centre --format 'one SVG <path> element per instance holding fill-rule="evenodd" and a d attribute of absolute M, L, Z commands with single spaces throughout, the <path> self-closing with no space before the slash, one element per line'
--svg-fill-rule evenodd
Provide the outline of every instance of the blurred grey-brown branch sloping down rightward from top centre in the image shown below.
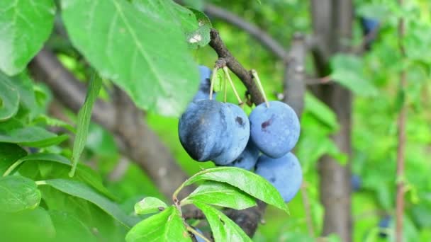
<path fill-rule="evenodd" d="M 208 16 L 223 19 L 226 23 L 230 23 L 235 25 L 237 28 L 245 30 L 245 32 L 249 33 L 254 39 L 260 42 L 263 47 L 266 47 L 270 52 L 274 53 L 276 57 L 287 62 L 288 53 L 284 47 L 256 25 L 245 21 L 230 11 L 214 6 L 213 4 L 206 4 L 203 11 L 205 11 Z"/>

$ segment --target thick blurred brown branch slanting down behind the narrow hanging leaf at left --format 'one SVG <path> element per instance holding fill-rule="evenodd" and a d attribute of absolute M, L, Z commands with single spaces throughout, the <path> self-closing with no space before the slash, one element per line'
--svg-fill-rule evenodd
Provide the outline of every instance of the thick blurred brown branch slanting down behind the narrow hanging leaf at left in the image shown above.
<path fill-rule="evenodd" d="M 30 63 L 30 70 L 67 108 L 74 112 L 81 108 L 86 93 L 84 84 L 77 81 L 52 52 L 41 50 Z M 186 173 L 143 120 L 142 111 L 124 93 L 117 92 L 113 104 L 98 100 L 92 118 L 115 135 L 121 153 L 138 163 L 166 197 L 186 180 Z M 192 188 L 185 189 L 191 192 Z"/>

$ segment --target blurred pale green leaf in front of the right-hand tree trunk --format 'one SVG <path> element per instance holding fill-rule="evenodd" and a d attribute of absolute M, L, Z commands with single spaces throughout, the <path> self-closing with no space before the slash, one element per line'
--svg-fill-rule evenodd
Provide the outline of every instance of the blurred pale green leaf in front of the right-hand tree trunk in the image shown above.
<path fill-rule="evenodd" d="M 347 54 L 337 54 L 331 59 L 332 80 L 349 88 L 359 96 L 376 96 L 378 91 L 373 83 L 365 79 L 362 60 Z"/>

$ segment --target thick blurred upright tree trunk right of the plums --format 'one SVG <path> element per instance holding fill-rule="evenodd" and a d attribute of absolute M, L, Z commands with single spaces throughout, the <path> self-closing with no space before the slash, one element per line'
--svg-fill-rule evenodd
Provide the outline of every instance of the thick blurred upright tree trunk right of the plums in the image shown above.
<path fill-rule="evenodd" d="M 313 50 L 316 72 L 328 74 L 328 62 L 335 52 L 349 51 L 352 36 L 353 6 L 350 0 L 313 0 L 313 30 L 318 40 Z M 347 43 L 347 45 L 346 45 Z M 320 100 L 337 115 L 340 130 L 332 136 L 340 151 L 350 156 L 352 94 L 332 83 L 313 87 Z M 325 207 L 323 236 L 335 233 L 342 241 L 352 241 L 352 201 L 350 163 L 341 166 L 330 156 L 323 156 L 319 165 L 320 202 Z"/>

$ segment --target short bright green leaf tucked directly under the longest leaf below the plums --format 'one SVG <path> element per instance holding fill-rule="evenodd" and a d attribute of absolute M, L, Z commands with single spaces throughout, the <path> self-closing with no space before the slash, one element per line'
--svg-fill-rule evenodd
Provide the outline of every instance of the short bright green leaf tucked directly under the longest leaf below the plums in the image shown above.
<path fill-rule="evenodd" d="M 230 207 L 237 210 L 256 205 L 254 198 L 242 192 L 242 190 L 228 185 L 227 183 L 213 181 L 206 181 L 198 186 L 198 188 L 184 200 L 203 202 L 220 207 Z"/>

